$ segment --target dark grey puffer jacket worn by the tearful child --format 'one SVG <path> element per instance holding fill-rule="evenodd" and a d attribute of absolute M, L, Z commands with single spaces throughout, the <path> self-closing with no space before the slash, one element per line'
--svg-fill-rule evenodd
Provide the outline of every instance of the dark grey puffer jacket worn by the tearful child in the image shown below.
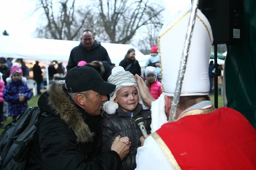
<path fill-rule="evenodd" d="M 151 113 L 150 110 L 142 110 L 141 104 L 135 108 L 133 116 L 139 113 L 144 117 L 145 128 L 150 134 L 150 124 L 151 124 Z M 140 147 L 139 138 L 142 136 L 140 128 L 134 123 L 134 120 L 127 115 L 121 107 L 116 109 L 114 115 L 108 115 L 103 112 L 102 125 L 102 141 L 103 141 L 103 151 L 107 152 L 116 136 L 129 137 L 132 142 L 130 152 L 127 157 L 122 161 L 122 170 L 133 170 L 136 168 L 136 154 L 137 148 Z"/>

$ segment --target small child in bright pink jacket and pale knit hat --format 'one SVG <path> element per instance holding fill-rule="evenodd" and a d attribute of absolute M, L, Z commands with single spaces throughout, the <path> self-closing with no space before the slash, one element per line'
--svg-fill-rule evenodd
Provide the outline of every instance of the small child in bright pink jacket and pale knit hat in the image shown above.
<path fill-rule="evenodd" d="M 152 96 L 158 99 L 162 94 L 161 83 L 157 80 L 156 68 L 152 66 L 146 67 L 145 70 L 146 84 Z"/>

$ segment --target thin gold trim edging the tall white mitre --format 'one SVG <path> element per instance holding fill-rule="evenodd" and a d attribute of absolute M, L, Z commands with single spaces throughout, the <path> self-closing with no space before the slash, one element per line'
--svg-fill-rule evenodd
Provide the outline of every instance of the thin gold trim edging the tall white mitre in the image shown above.
<path fill-rule="evenodd" d="M 160 35 L 158 37 L 158 50 L 159 50 L 159 57 L 160 57 L 160 70 L 161 70 L 161 77 L 162 77 L 162 80 L 161 80 L 161 90 L 162 92 L 165 92 L 164 91 L 164 77 L 163 77 L 163 69 L 162 69 L 162 62 L 161 62 L 161 48 L 160 48 L 160 38 L 162 38 L 166 33 L 168 33 L 175 25 L 177 25 L 181 19 L 183 19 L 186 15 L 188 15 L 190 11 L 188 11 L 185 15 L 183 15 L 173 26 L 171 26 L 169 29 L 167 29 L 162 35 Z M 203 25 L 205 26 L 207 32 L 208 32 L 208 35 L 209 35 L 209 38 L 210 38 L 210 42 L 212 42 L 212 38 L 211 38 L 211 34 L 210 34 L 210 31 L 208 29 L 208 27 L 206 26 L 206 24 L 204 23 L 204 21 L 198 16 L 196 15 L 196 17 L 203 23 Z M 168 92 L 165 92 L 165 93 L 168 93 Z M 205 93 L 205 92 L 197 92 L 197 93 Z M 207 92 L 208 93 L 208 92 Z M 173 93 L 174 94 L 174 93 Z M 181 93 L 181 94 L 189 94 L 189 93 Z"/>

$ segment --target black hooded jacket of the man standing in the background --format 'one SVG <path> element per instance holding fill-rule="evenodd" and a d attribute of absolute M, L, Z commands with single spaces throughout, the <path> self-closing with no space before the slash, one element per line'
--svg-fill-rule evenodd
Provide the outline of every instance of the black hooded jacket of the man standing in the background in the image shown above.
<path fill-rule="evenodd" d="M 84 48 L 82 42 L 80 42 L 79 46 L 74 47 L 68 59 L 67 70 L 70 70 L 77 66 L 78 62 L 86 61 L 87 63 L 91 63 L 93 61 L 101 61 L 104 65 L 104 62 L 111 63 L 111 60 L 108 56 L 107 50 L 100 45 L 100 42 L 94 40 L 92 48 L 87 50 Z"/>

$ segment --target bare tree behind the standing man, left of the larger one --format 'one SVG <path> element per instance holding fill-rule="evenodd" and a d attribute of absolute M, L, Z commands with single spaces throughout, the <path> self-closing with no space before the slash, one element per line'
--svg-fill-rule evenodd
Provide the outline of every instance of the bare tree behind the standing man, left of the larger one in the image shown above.
<path fill-rule="evenodd" d="M 89 9 L 75 9 L 75 0 L 38 0 L 37 9 L 43 9 L 47 20 L 45 26 L 37 28 L 38 37 L 58 40 L 74 40 L 80 37 L 82 28 L 92 28 L 94 17 Z M 59 10 L 56 10 L 59 9 Z"/>

